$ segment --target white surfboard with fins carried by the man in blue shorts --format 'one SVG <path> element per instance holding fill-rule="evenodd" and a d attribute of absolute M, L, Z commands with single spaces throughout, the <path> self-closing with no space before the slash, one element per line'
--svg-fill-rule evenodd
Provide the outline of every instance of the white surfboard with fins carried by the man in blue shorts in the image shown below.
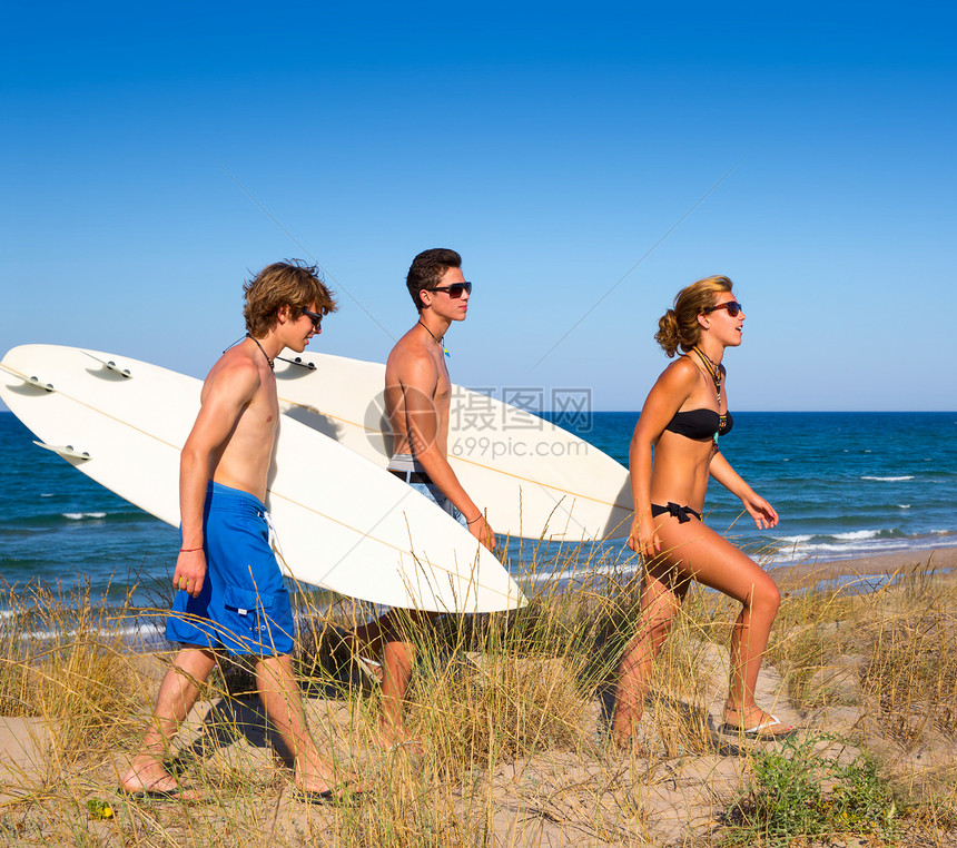
<path fill-rule="evenodd" d="M 179 454 L 201 383 L 145 362 L 56 345 L 14 347 L 0 397 L 38 444 L 179 524 Z M 495 556 L 408 485 L 286 416 L 266 505 L 286 574 L 393 607 L 489 612 L 525 603 Z"/>

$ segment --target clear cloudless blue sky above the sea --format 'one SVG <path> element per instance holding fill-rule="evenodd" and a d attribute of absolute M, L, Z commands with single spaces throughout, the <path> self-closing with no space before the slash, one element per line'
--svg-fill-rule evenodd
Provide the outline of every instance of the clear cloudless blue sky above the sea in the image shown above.
<path fill-rule="evenodd" d="M 314 258 L 310 349 L 384 361 L 463 254 L 455 382 L 637 410 L 727 274 L 738 410 L 954 410 L 953 3 L 8 4 L 0 347 L 203 376 Z M 931 322 L 935 310 L 944 314 Z M 931 358 L 933 357 L 933 358 Z"/>

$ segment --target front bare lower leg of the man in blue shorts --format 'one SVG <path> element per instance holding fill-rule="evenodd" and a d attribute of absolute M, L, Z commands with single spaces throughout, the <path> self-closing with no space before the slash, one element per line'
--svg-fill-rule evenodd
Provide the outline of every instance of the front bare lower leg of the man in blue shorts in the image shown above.
<path fill-rule="evenodd" d="M 257 660 L 256 683 L 266 714 L 295 760 L 296 785 L 308 792 L 332 789 L 335 771 L 319 753 L 306 727 L 303 697 L 293 677 L 292 659 L 282 654 Z"/>

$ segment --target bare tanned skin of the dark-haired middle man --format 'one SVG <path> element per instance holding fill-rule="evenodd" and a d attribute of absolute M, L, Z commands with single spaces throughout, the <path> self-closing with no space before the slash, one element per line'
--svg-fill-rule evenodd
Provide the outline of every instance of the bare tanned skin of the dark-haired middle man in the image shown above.
<path fill-rule="evenodd" d="M 447 268 L 440 287 L 464 283 L 461 268 Z M 468 531 L 490 551 L 495 534 L 485 513 L 470 497 L 448 464 L 448 420 L 452 382 L 438 339 L 453 322 L 464 321 L 468 294 L 451 297 L 447 292 L 421 292 L 422 310 L 416 323 L 395 345 L 385 366 L 385 406 L 394 433 L 393 452 L 411 453 L 452 504 L 465 516 Z M 424 326 L 423 326 L 424 325 Z M 413 624 L 428 613 L 403 611 Z M 412 677 L 414 645 L 403 637 L 393 613 L 361 628 L 356 641 L 382 650 L 383 680 L 379 741 L 394 746 L 412 741 L 402 714 Z"/>

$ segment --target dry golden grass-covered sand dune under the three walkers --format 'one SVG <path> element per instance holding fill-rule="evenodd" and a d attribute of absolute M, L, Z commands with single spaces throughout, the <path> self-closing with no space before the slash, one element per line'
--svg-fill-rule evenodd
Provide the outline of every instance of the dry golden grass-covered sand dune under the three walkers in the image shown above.
<path fill-rule="evenodd" d="M 876 591 L 788 594 L 762 679 L 778 681 L 776 709 L 805 733 L 773 746 L 716 733 L 737 610 L 695 586 L 641 732 L 622 752 L 609 745 L 608 719 L 639 582 L 633 563 L 616 568 L 601 551 L 565 556 L 569 566 L 585 560 L 584 576 L 534 584 L 523 610 L 411 632 L 407 719 L 421 755 L 375 745 L 378 688 L 333 631 L 348 625 L 352 605 L 298 596 L 310 728 L 342 777 L 369 787 L 343 807 L 293 799 L 288 752 L 250 696 L 248 670 L 225 659 L 169 752 L 204 802 L 121 798 L 125 755 L 169 659 L 131 649 L 129 629 L 159 619 L 161 604 L 108 608 L 82 582 L 8 588 L 0 845 L 955 842 L 957 585 L 933 562 Z"/>

